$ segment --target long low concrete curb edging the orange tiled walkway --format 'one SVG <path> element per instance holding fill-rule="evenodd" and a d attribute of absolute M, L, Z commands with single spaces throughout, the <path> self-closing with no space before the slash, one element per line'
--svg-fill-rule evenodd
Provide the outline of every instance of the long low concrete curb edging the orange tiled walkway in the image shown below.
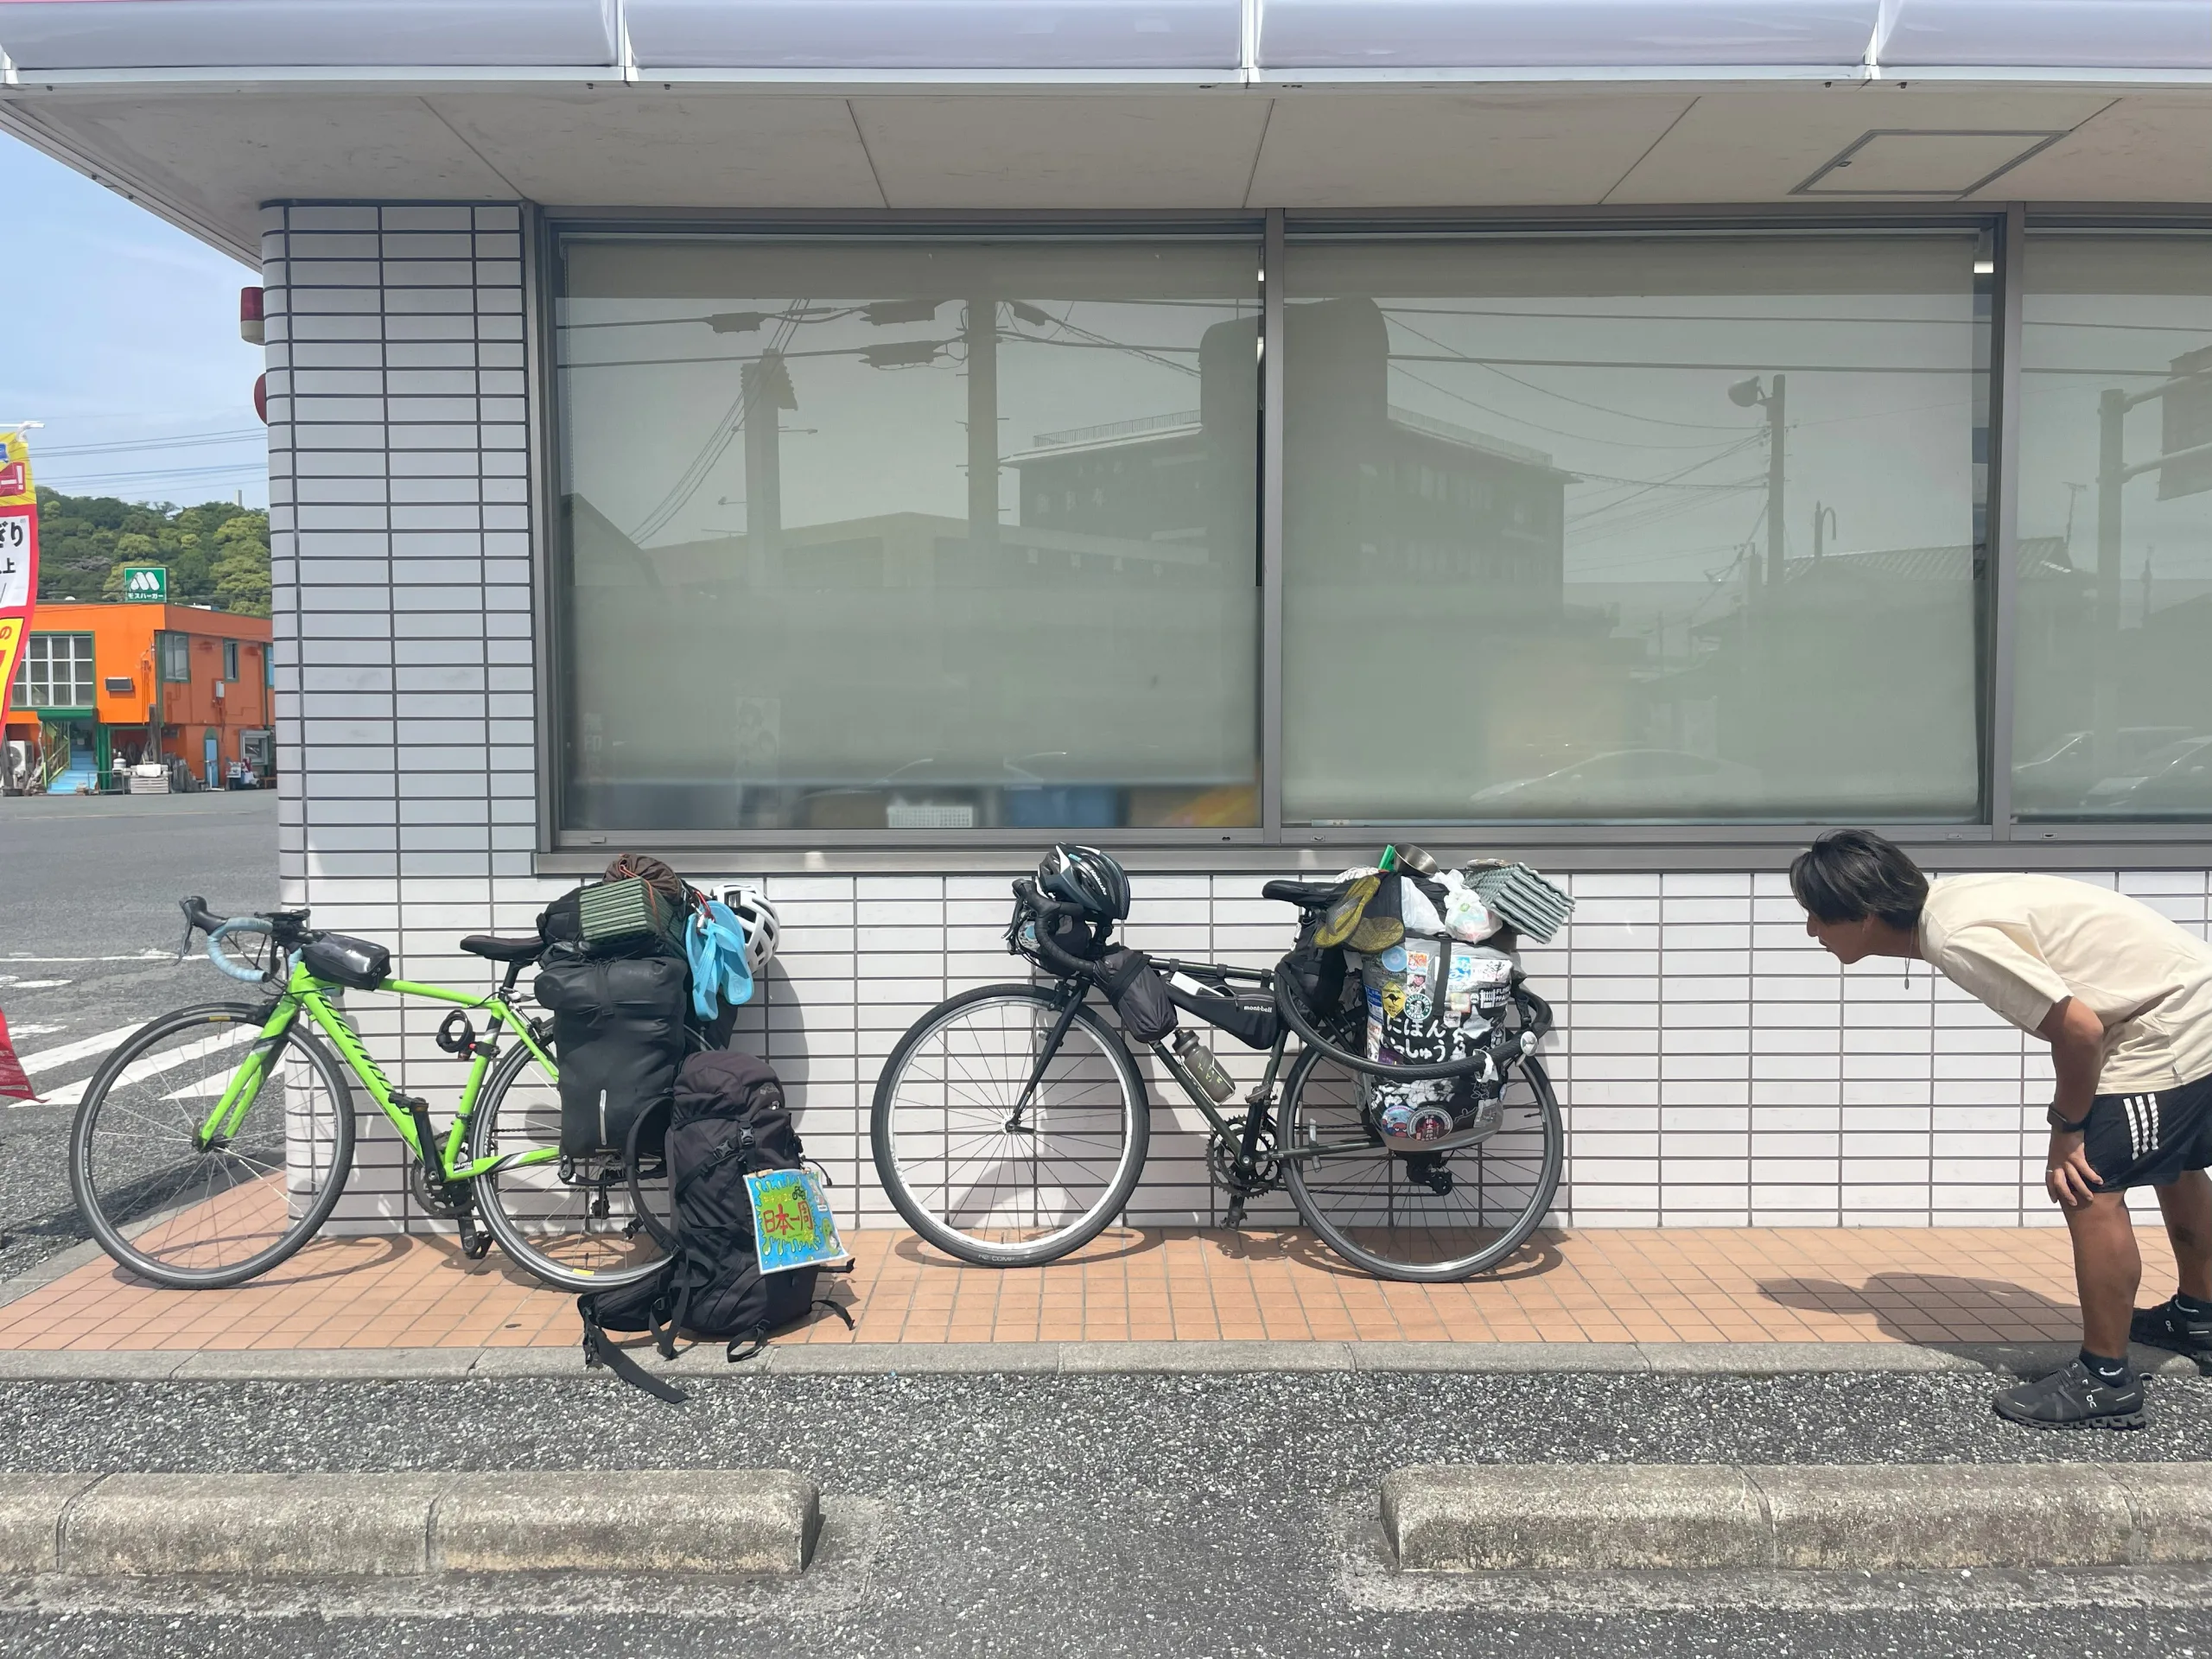
<path fill-rule="evenodd" d="M 2073 1343 L 783 1343 L 730 1365 L 721 1343 L 653 1371 L 679 1378 L 750 1376 L 1206 1376 L 1265 1371 L 1451 1371 L 1460 1376 L 2039 1376 Z M 2132 1352 L 2150 1376 L 2194 1378 L 2197 1365 L 2154 1347 Z M 0 1383 L 409 1383 L 465 1378 L 606 1378 L 575 1347 L 325 1347 L 184 1352 L 0 1352 Z"/>

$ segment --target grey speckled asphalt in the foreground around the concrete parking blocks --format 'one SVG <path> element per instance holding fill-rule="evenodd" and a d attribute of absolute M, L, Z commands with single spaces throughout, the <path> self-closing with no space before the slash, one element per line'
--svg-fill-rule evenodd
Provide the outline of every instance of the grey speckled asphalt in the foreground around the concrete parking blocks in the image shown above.
<path fill-rule="evenodd" d="M 1455 1606 L 1371 1559 L 1356 1571 L 1374 1484 L 1402 1462 L 2212 1455 L 2208 1383 L 2161 1380 L 2154 1427 L 2139 1436 L 2015 1431 L 1986 1396 L 1973 1376 L 763 1376 L 703 1383 L 670 1409 L 604 1378 L 22 1385 L 0 1398 L 7 1469 L 783 1464 L 832 1500 L 869 1500 L 878 1522 L 843 1595 L 774 1593 L 745 1619 L 684 1593 L 602 1617 L 33 1606 L 0 1610 L 0 1644 L 11 1655 L 947 1659 L 2212 1652 L 2201 1575 L 2152 1597 L 2163 1606 L 2141 1606 L 2141 1586 L 2110 1575 L 1798 1582 L 1787 1604 L 1708 1575 L 1655 1608 L 1613 1582 L 1551 1586 L 1526 1606 Z M 69 1433 L 53 1433 L 62 1422 Z M 555 1593 L 575 1595 L 538 1590 Z"/>

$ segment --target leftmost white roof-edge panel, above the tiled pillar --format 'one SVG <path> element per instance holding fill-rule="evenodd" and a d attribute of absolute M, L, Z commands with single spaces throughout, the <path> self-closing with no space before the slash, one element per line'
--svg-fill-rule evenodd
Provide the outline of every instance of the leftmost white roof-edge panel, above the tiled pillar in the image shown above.
<path fill-rule="evenodd" d="M 42 69 L 613 64 L 615 0 L 0 0 Z"/>

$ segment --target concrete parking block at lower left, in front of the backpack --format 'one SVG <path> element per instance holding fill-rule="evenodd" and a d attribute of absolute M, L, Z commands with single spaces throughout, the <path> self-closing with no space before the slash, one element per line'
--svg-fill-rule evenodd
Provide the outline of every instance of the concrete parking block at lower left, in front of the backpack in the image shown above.
<path fill-rule="evenodd" d="M 0 1475 L 0 1573 L 409 1577 L 805 1568 L 787 1469 L 467 1475 Z"/>

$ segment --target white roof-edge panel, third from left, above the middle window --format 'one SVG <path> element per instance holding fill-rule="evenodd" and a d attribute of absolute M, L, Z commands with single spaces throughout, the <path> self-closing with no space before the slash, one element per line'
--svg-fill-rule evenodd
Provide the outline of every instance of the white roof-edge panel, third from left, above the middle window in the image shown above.
<path fill-rule="evenodd" d="M 1876 0 L 1265 0 L 1261 69 L 1832 64 Z"/>

